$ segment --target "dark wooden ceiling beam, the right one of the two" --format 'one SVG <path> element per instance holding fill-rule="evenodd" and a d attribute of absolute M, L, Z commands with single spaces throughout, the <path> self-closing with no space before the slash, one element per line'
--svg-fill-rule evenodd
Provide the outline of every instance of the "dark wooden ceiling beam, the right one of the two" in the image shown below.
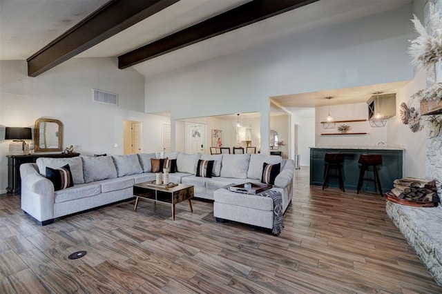
<path fill-rule="evenodd" d="M 211 19 L 206 19 L 172 35 L 149 43 L 118 57 L 118 68 L 128 68 L 194 43 L 230 32 L 277 14 L 294 10 L 318 0 L 254 0 Z"/>

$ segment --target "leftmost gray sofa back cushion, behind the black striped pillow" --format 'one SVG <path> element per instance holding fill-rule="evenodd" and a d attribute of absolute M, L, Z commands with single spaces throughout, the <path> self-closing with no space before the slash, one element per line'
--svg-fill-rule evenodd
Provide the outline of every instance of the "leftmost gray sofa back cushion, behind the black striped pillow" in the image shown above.
<path fill-rule="evenodd" d="M 61 168 L 61 166 L 66 166 L 69 164 L 70 174 L 72 175 L 74 184 L 84 184 L 83 177 L 83 162 L 81 157 L 71 157 L 71 158 L 50 158 L 50 157 L 39 157 L 36 161 L 39 167 L 40 175 L 46 177 L 46 167 L 48 168 Z"/>

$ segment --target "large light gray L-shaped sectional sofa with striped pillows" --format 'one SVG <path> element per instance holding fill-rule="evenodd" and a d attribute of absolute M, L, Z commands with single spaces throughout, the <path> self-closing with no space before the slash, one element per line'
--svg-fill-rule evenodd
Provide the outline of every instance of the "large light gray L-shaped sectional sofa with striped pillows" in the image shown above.
<path fill-rule="evenodd" d="M 21 209 L 42 225 L 83 210 L 104 206 L 133 197 L 133 184 L 155 180 L 151 159 L 176 159 L 177 172 L 170 182 L 191 184 L 195 197 L 213 199 L 215 190 L 229 184 L 260 182 L 262 166 L 281 163 L 275 180 L 285 203 L 291 200 L 294 163 L 276 155 L 201 155 L 186 153 L 139 153 L 103 157 L 40 157 L 36 164 L 22 164 Z M 212 177 L 196 177 L 198 160 L 213 160 Z M 74 186 L 55 190 L 45 177 L 46 167 L 60 168 L 69 164 Z M 285 208 L 287 208 L 287 205 Z"/>

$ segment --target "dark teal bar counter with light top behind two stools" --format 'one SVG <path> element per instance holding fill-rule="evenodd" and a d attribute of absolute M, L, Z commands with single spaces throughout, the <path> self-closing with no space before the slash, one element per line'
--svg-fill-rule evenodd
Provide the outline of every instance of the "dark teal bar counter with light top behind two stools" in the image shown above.
<path fill-rule="evenodd" d="M 382 190 L 385 193 L 393 188 L 394 179 L 403 177 L 403 150 L 404 148 L 394 146 L 310 147 L 310 184 L 323 186 L 325 153 L 343 153 L 345 158 L 343 164 L 344 186 L 346 189 L 356 190 L 360 170 L 359 156 L 361 154 L 380 154 L 382 155 L 382 166 L 378 172 Z M 372 171 L 365 172 L 365 178 L 372 179 Z M 329 187 L 338 188 L 338 179 L 331 178 Z M 362 190 L 374 192 L 374 182 L 364 181 Z"/>

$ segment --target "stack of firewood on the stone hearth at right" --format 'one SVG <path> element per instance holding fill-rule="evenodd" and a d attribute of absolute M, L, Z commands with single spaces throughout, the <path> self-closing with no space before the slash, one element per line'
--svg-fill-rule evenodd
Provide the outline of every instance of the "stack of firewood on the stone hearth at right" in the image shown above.
<path fill-rule="evenodd" d="M 390 192 L 391 196 L 411 201 L 439 202 L 434 179 L 404 177 L 403 179 L 395 179 L 393 183 L 394 188 Z"/>

